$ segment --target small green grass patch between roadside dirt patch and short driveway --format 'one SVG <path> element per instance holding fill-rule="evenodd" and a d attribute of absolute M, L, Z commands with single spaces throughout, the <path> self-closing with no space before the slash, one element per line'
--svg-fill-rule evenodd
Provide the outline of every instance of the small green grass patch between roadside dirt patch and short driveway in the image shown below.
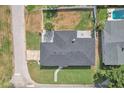
<path fill-rule="evenodd" d="M 38 32 L 26 32 L 26 46 L 27 49 L 40 49 L 40 35 Z"/>

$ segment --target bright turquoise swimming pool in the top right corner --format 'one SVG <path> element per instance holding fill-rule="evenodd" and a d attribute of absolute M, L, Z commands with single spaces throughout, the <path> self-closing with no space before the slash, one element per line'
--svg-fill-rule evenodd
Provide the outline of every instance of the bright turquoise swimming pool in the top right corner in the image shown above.
<path fill-rule="evenodd" d="M 124 9 L 123 10 L 114 10 L 112 12 L 113 19 L 124 19 Z"/>

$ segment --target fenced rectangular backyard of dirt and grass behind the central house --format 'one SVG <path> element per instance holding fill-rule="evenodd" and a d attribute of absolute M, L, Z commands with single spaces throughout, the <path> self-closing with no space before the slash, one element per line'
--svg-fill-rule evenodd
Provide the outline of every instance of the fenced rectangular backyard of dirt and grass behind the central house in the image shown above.
<path fill-rule="evenodd" d="M 51 16 L 47 16 L 47 15 Z M 62 10 L 45 11 L 44 25 L 51 23 L 54 30 L 92 30 L 92 11 L 87 10 Z M 45 29 L 45 28 L 44 28 Z"/>

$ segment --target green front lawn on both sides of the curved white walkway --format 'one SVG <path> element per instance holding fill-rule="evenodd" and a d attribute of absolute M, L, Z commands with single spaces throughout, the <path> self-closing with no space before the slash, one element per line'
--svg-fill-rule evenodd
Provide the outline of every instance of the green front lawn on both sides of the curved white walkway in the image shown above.
<path fill-rule="evenodd" d="M 31 78 L 42 84 L 54 84 L 53 74 L 57 68 L 42 68 L 35 62 L 28 63 Z M 92 84 L 93 70 L 90 68 L 64 68 L 58 73 L 58 84 Z"/>

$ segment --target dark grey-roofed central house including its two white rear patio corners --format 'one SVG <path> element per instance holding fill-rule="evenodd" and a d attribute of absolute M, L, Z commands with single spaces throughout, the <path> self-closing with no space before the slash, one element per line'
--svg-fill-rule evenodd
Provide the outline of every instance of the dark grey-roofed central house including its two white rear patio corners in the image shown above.
<path fill-rule="evenodd" d="M 95 38 L 91 31 L 42 33 L 41 66 L 91 66 L 95 64 Z"/>

